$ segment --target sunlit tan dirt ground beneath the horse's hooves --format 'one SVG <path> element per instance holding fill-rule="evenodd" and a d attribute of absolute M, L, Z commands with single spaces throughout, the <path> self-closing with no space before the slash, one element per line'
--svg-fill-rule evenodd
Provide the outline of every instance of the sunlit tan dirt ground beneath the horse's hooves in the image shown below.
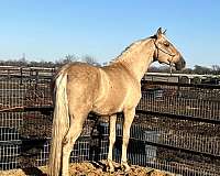
<path fill-rule="evenodd" d="M 74 163 L 70 165 L 70 175 L 72 176 L 177 176 L 175 174 L 161 172 L 157 169 L 141 167 L 141 166 L 131 166 L 130 173 L 123 173 L 120 169 L 119 164 L 114 164 L 116 172 L 110 174 L 106 172 L 105 162 L 101 163 Z M 11 169 L 6 172 L 0 172 L 1 176 L 47 176 L 46 174 L 47 167 L 38 167 L 38 168 L 25 168 L 25 169 Z"/>

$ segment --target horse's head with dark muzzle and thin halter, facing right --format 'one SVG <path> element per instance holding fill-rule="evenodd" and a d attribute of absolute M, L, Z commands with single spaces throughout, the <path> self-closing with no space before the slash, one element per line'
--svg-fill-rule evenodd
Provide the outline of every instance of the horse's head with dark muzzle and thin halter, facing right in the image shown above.
<path fill-rule="evenodd" d="M 175 48 L 175 46 L 166 38 L 165 32 L 162 32 L 160 28 L 154 35 L 155 38 L 155 52 L 154 61 L 158 63 L 165 63 L 174 65 L 177 70 L 185 67 L 186 62 L 182 54 Z"/>

